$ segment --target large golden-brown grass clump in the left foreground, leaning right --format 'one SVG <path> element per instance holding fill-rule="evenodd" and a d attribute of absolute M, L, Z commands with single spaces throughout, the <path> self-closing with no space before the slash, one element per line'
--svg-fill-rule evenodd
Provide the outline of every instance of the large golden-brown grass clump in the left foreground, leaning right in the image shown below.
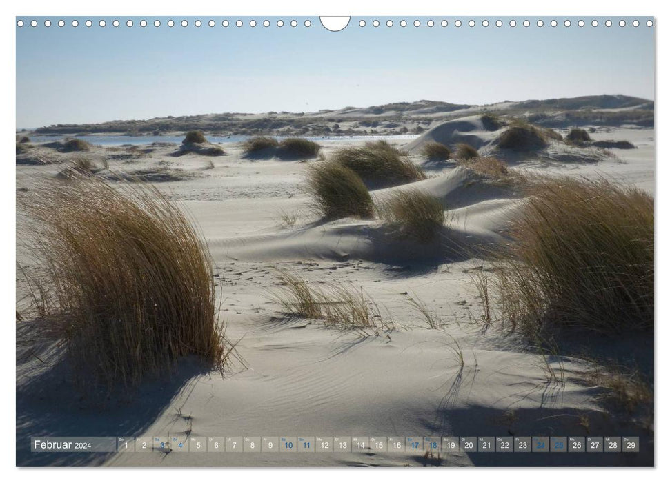
<path fill-rule="evenodd" d="M 45 269 L 32 280 L 38 315 L 61 335 L 82 386 L 135 386 L 187 355 L 223 367 L 208 249 L 158 190 L 79 175 L 17 203 Z"/>

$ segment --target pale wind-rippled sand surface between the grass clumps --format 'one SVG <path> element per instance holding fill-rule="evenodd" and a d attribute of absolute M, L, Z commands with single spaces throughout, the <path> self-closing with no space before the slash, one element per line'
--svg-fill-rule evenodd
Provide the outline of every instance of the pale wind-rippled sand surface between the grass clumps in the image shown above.
<path fill-rule="evenodd" d="M 428 132 L 405 148 L 418 155 L 423 139 L 454 137 L 482 152 L 496 132 L 473 128 L 464 118 Z M 460 124 L 459 124 L 460 123 Z M 653 130 L 620 128 L 594 139 L 627 139 L 637 149 L 610 150 L 598 162 L 517 160 L 529 170 L 561 175 L 604 175 L 653 193 Z M 440 140 L 440 139 L 437 139 Z M 326 141 L 324 154 L 359 141 Z M 451 144 L 451 143 L 450 143 Z M 225 156 L 170 156 L 176 146 L 128 155 L 123 148 L 94 148 L 110 170 L 141 171 L 186 207 L 202 230 L 215 262 L 221 319 L 242 359 L 223 376 L 202 373 L 186 361 L 166 381 L 109 400 L 81 400 L 56 361 L 59 348 L 32 343 L 37 324 L 17 324 L 17 464 L 111 466 L 580 466 L 653 464 L 653 434 L 641 424 L 612 419 L 599 404 L 602 388 L 590 386 L 591 366 L 581 359 L 548 355 L 565 377 L 547 376 L 542 353 L 519 335 L 492 326 L 483 331 L 482 303 L 471 273 L 482 260 L 455 247 L 476 248 L 500 239 L 520 199 L 510 190 L 482 184 L 453 164 L 429 165 L 430 177 L 413 186 L 440 198 L 453 220 L 449 243 L 422 246 L 403 241 L 380 221 L 318 222 L 301 188 L 309 162 L 250 161 L 236 145 Z M 48 155 L 48 148 L 35 148 Z M 88 153 L 87 153 L 88 154 Z M 551 154 L 551 153 L 550 153 Z M 549 155 L 548 155 L 549 156 Z M 126 157 L 126 159 L 124 159 Z M 593 161 L 593 159 L 590 159 Z M 212 165 L 209 162 L 212 162 Z M 17 164 L 17 188 L 55 175 L 62 164 Z M 106 171 L 99 172 L 104 176 Z M 169 175 L 169 176 L 168 176 Z M 164 176 L 165 178 L 161 178 Z M 373 192 L 383 197 L 390 190 Z M 280 213 L 296 214 L 282 226 Z M 30 266 L 30 260 L 22 258 Z M 388 325 L 363 337 L 326 328 L 319 320 L 282 314 L 271 293 L 277 269 L 290 268 L 314 282 L 362 287 Z M 22 293 L 17 293 L 21 299 Z M 442 320 L 431 329 L 409 302 L 420 299 Z M 21 303 L 19 303 L 19 306 Z M 393 330 L 392 330 L 393 328 Z M 462 353 L 462 363 L 458 353 Z M 650 357 L 653 347 L 649 347 Z M 45 361 L 45 362 L 42 362 Z M 167 373 L 167 369 L 166 369 Z M 588 420 L 588 427 L 584 421 Z M 128 436 L 500 436 L 633 435 L 640 453 L 33 453 L 31 435 Z"/>

